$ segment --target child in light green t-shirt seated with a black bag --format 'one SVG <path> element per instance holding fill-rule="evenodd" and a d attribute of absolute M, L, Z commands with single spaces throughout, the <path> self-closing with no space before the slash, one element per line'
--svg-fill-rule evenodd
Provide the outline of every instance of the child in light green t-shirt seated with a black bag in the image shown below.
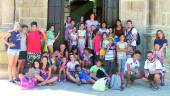
<path fill-rule="evenodd" d="M 109 77 L 109 75 L 105 72 L 104 68 L 101 65 L 102 62 L 98 59 L 96 60 L 96 65 L 93 65 L 90 68 L 90 74 L 95 80 L 106 76 Z"/>

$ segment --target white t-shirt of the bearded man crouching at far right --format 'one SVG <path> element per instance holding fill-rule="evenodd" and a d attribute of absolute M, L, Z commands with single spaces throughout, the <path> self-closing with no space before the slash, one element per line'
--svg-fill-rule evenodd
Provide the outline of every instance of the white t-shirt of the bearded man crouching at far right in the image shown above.
<path fill-rule="evenodd" d="M 150 62 L 148 59 L 145 61 L 144 69 L 149 70 L 149 73 L 153 73 L 156 70 L 162 69 L 162 64 L 158 59 L 155 59 L 154 62 Z"/>

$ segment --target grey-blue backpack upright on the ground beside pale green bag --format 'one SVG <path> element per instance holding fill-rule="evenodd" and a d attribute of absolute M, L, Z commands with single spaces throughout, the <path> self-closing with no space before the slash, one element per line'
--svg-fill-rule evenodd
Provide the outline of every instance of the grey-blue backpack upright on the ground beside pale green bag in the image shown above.
<path fill-rule="evenodd" d="M 110 89 L 120 90 L 121 89 L 121 78 L 118 74 L 113 74 L 111 77 Z"/>

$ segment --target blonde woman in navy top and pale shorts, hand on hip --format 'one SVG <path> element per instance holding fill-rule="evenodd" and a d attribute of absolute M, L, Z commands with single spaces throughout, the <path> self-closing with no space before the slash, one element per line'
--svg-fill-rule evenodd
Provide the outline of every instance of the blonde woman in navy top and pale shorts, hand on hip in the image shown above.
<path fill-rule="evenodd" d="M 14 24 L 12 31 L 8 32 L 4 36 L 4 42 L 8 45 L 7 54 L 8 54 L 8 76 L 9 82 L 16 83 L 16 64 L 19 57 L 20 50 L 20 28 L 21 25 L 19 22 Z"/>

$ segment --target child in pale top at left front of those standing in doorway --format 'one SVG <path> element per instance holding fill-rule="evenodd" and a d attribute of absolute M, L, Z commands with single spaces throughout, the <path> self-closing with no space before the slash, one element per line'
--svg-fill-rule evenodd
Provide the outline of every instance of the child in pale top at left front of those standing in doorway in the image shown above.
<path fill-rule="evenodd" d="M 77 29 L 74 27 L 70 32 L 69 32 L 69 40 L 70 40 L 70 50 L 73 46 L 77 46 Z"/>

